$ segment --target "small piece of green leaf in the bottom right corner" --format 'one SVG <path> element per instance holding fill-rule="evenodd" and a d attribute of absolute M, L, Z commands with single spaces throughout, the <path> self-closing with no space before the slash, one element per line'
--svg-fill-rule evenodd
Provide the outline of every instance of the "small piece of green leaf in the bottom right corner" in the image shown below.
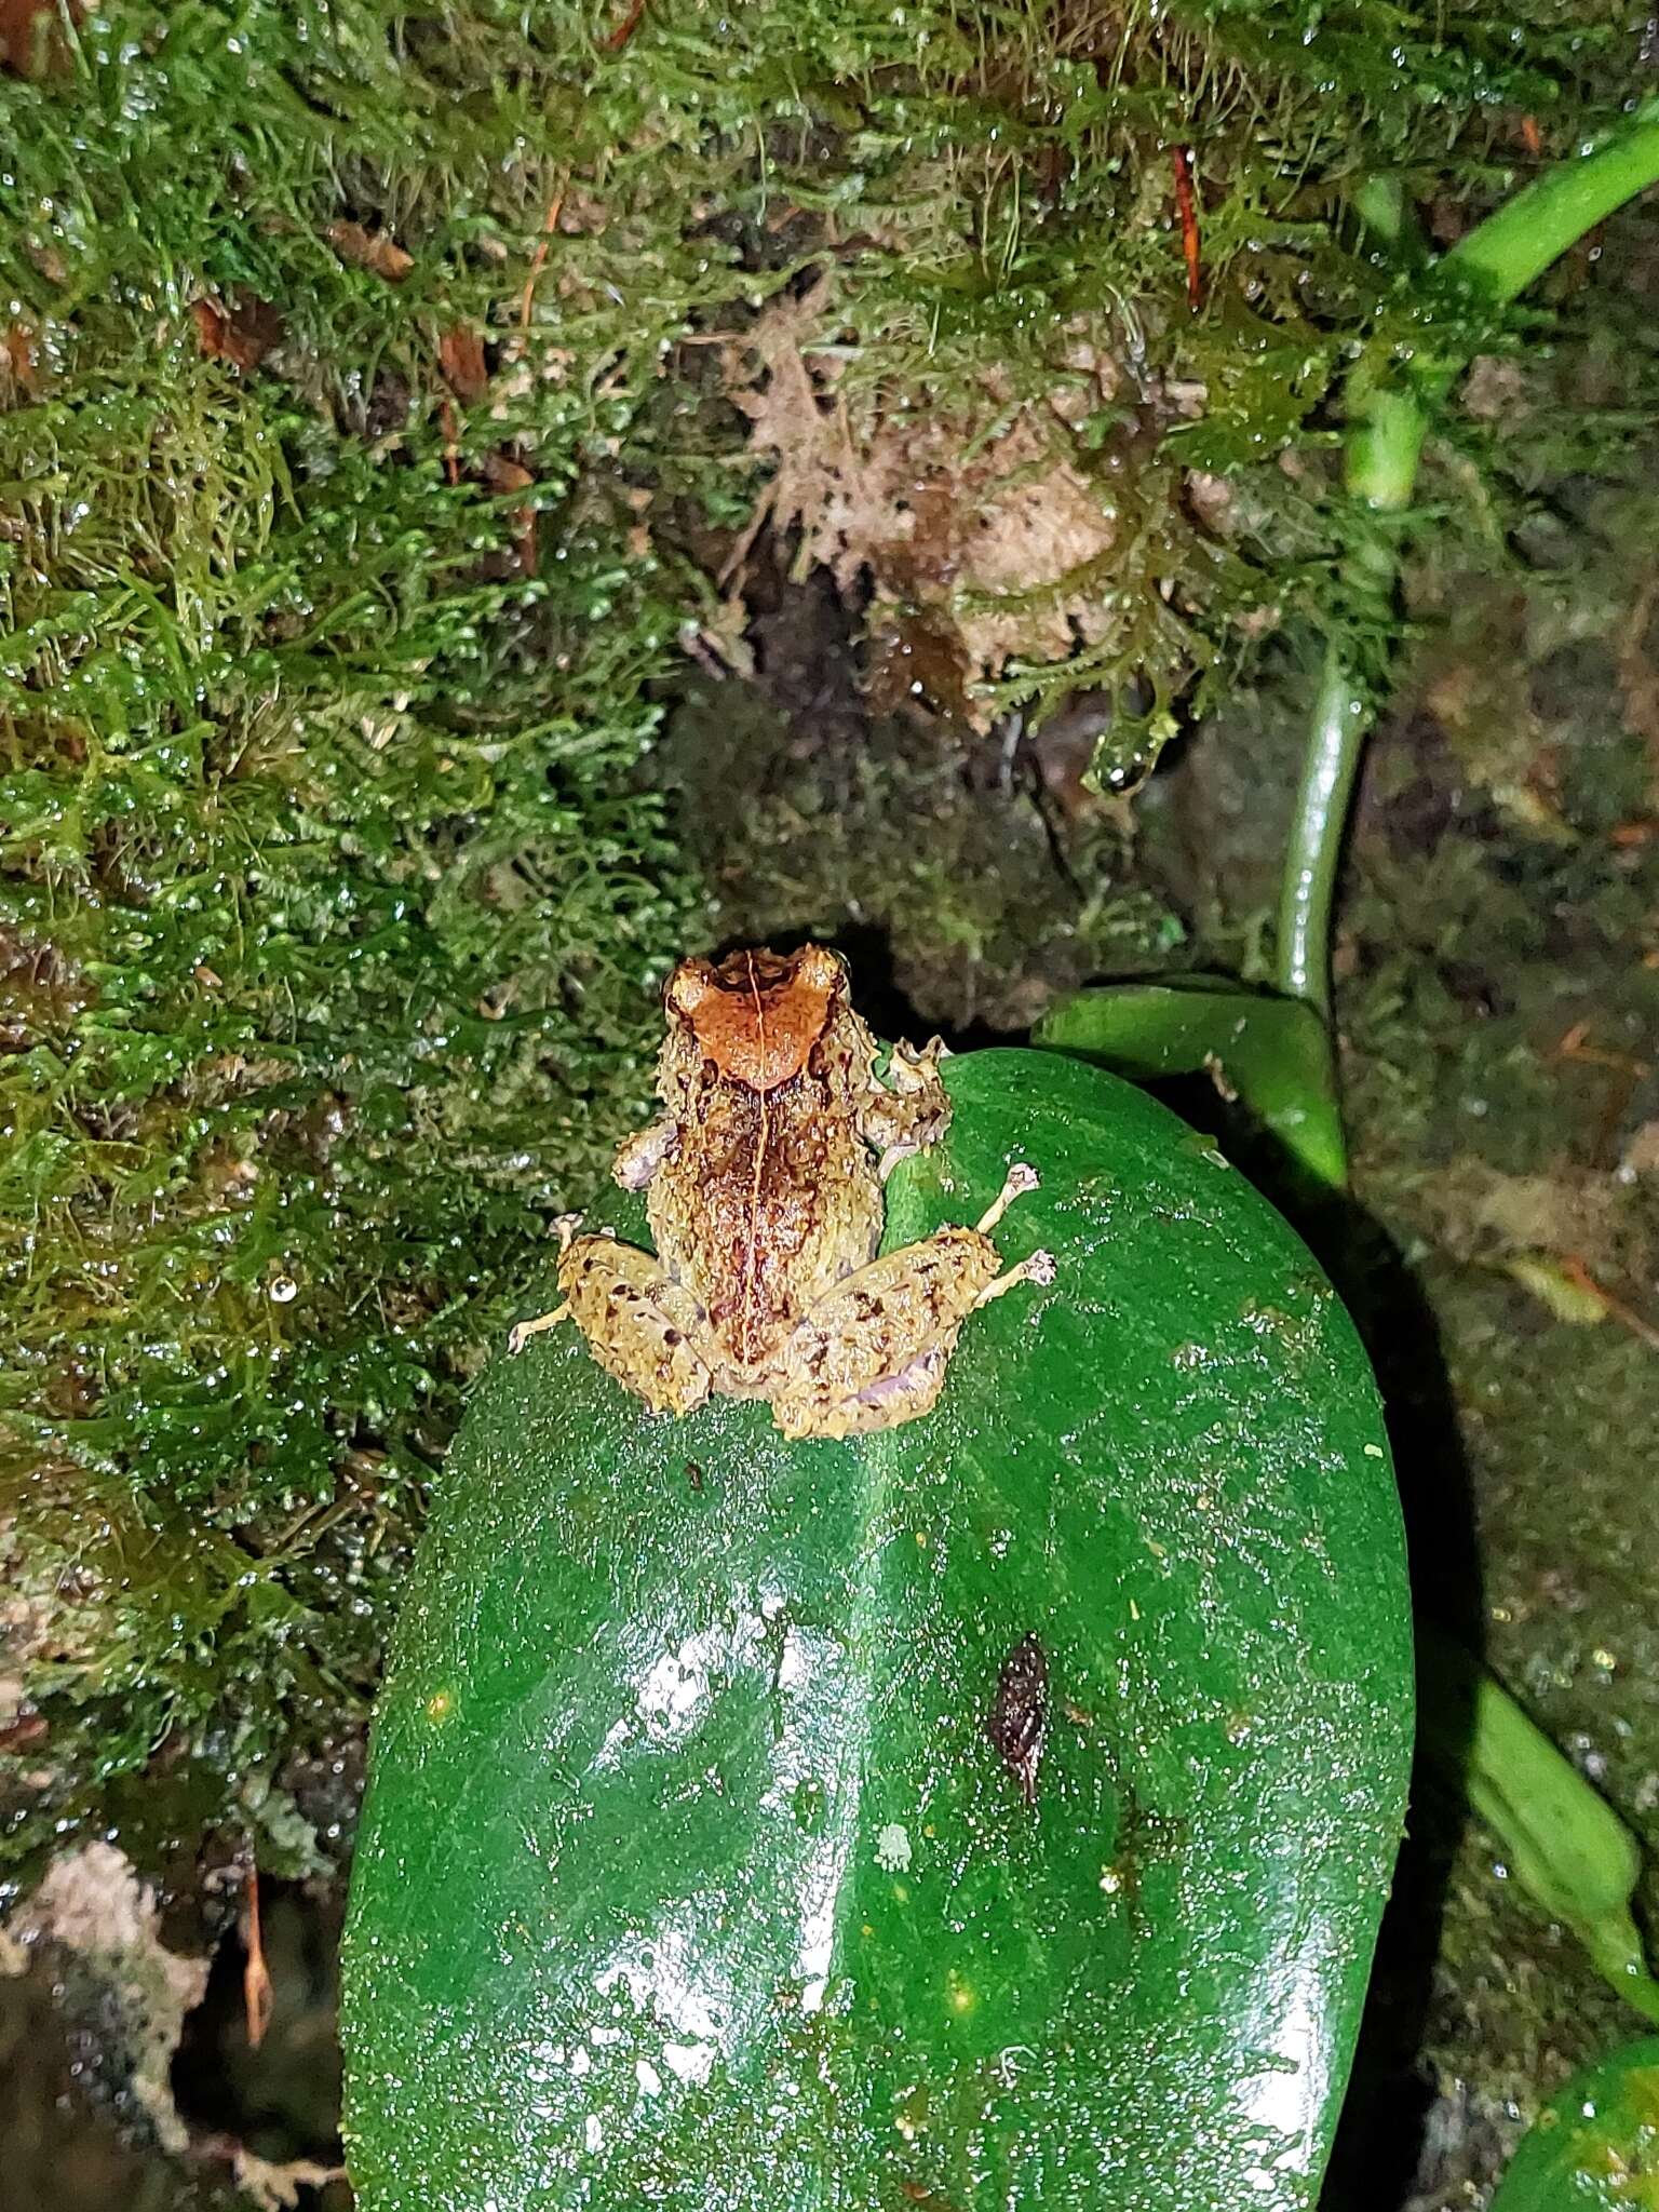
<path fill-rule="evenodd" d="M 1491 2212 L 1648 2212 L 1657 2203 L 1659 2035 L 1644 2035 L 1551 2097 Z"/>

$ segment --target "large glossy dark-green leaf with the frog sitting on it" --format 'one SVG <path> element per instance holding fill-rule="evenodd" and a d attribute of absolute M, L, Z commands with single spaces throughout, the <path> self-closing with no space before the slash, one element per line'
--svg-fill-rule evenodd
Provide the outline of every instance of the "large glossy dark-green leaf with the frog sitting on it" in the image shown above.
<path fill-rule="evenodd" d="M 478 1387 L 352 1889 L 363 2212 L 1314 2201 L 1411 1734 L 1376 1387 L 1152 1099 L 945 1073 L 889 1245 L 1029 1159 L 998 1243 L 1057 1279 L 933 1416 L 653 1420 L 566 1332 Z M 1033 1803 L 987 1734 L 1029 1637 Z"/>

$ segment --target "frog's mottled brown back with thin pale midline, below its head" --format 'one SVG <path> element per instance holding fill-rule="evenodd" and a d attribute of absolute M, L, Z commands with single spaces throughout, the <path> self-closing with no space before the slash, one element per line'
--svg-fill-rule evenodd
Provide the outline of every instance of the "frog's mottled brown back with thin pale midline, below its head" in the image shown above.
<path fill-rule="evenodd" d="M 650 1186 L 657 1252 L 708 1307 L 739 1367 L 761 1365 L 801 1312 L 880 1241 L 869 1148 L 827 1099 L 812 1073 L 765 1097 L 728 1088 L 695 1157 L 666 1161 Z M 745 1312 L 750 1340 L 739 1343 Z"/>

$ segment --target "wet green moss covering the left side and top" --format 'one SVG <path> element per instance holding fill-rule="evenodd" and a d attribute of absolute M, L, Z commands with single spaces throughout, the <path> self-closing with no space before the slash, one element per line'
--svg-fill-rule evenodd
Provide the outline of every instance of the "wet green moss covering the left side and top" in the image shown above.
<path fill-rule="evenodd" d="M 1613 115 L 1624 15 L 42 24 L 0 80 L 9 1851 L 159 1756 L 179 1818 L 303 1858 L 270 1776 L 361 1717 L 460 1389 L 695 933 L 635 763 L 692 553 L 761 489 L 708 365 L 830 274 L 807 338 L 865 429 L 1046 409 L 1115 553 L 1088 655 L 1004 692 L 1159 726 L 1267 551 L 1318 551 L 1254 465 L 1318 438 L 1387 292 L 1345 192 L 1498 188 L 1522 117 Z M 1254 473 L 1217 522 L 1192 469 Z"/>

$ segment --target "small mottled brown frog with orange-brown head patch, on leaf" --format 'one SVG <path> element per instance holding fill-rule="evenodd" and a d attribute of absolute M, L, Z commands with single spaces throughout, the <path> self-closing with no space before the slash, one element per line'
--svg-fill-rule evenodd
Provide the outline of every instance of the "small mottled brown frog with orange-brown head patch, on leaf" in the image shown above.
<path fill-rule="evenodd" d="M 617 1146 L 644 1190 L 655 1252 L 564 1214 L 560 1303 L 507 1343 L 571 1321 L 593 1358 L 653 1413 L 759 1398 L 787 1438 L 847 1438 L 929 1413 L 964 1321 L 1055 1279 L 1048 1252 L 1013 1267 L 991 1241 L 1037 1188 L 1029 1161 L 969 1228 L 878 1256 L 885 1186 L 945 1135 L 938 1037 L 896 1044 L 885 1079 L 827 945 L 686 958 L 664 987 L 661 1113 Z"/>

